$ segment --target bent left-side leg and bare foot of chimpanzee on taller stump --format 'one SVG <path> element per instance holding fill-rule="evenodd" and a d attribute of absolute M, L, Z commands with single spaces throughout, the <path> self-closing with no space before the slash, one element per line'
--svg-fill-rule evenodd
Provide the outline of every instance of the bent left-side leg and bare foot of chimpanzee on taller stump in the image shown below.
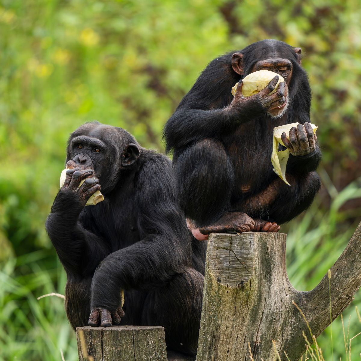
<path fill-rule="evenodd" d="M 211 232 L 245 232 L 254 228 L 254 221 L 247 214 L 227 212 L 234 169 L 222 142 L 199 140 L 175 154 L 173 164 L 179 204 L 195 238 L 201 240 Z"/>

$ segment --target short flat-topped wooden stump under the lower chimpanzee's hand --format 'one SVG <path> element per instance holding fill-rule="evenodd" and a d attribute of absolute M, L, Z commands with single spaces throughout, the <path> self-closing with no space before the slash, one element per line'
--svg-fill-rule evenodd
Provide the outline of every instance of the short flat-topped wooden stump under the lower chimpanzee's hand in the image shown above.
<path fill-rule="evenodd" d="M 77 341 L 79 361 L 167 361 L 159 326 L 77 327 Z"/>

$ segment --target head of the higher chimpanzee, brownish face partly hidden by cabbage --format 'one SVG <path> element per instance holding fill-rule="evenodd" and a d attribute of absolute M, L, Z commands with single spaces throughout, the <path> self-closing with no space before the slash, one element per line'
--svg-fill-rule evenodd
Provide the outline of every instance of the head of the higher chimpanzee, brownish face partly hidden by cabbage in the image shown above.
<path fill-rule="evenodd" d="M 284 95 L 286 102 L 268 110 L 268 114 L 274 118 L 285 114 L 287 109 L 296 114 L 301 108 L 308 109 L 309 113 L 311 91 L 307 74 L 300 64 L 300 48 L 293 48 L 291 45 L 272 39 L 253 43 L 232 55 L 232 68 L 242 78 L 263 69 L 282 75 L 286 85 Z"/>

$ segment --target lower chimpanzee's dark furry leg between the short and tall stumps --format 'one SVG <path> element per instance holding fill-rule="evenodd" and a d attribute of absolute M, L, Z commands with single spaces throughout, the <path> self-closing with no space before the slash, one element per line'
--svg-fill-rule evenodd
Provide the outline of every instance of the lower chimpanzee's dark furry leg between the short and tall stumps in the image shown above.
<path fill-rule="evenodd" d="M 196 355 L 202 311 L 204 277 L 187 268 L 165 287 L 149 292 L 143 325 L 163 326 L 167 348 Z"/>

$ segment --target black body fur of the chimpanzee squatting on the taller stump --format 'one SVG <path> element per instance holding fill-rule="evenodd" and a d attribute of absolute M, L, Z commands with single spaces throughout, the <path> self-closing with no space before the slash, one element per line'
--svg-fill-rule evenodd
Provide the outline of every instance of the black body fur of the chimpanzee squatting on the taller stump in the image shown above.
<path fill-rule="evenodd" d="M 320 187 L 315 172 L 321 160 L 318 147 L 309 156 L 290 155 L 287 177 L 292 187 L 272 171 L 270 161 L 274 127 L 310 122 L 308 77 L 293 47 L 277 40 L 262 40 L 240 52 L 243 76 L 232 69 L 234 52 L 214 59 L 164 127 L 166 151 L 173 152 L 179 203 L 197 226 L 210 225 L 232 210 L 252 218 L 287 222 L 311 204 Z M 275 119 L 260 114 L 256 107 L 231 109 L 232 86 L 248 75 L 257 61 L 276 57 L 287 58 L 293 67 L 287 112 Z M 248 185 L 249 191 L 240 190 Z M 279 197 L 260 205 L 255 197 L 262 191 L 277 192 Z"/>

